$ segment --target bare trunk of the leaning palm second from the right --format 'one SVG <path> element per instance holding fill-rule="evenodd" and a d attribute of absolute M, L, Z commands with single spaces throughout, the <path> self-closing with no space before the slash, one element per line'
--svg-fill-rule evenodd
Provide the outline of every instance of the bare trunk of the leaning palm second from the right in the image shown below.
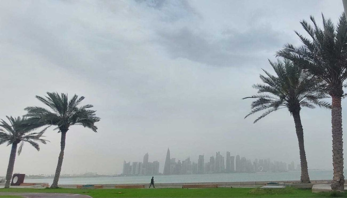
<path fill-rule="evenodd" d="M 296 136 L 299 142 L 299 153 L 300 153 L 300 165 L 301 165 L 301 183 L 311 183 L 310 177 L 308 176 L 306 153 L 304 147 L 304 129 L 301 124 L 300 111 L 293 112 L 293 118 L 295 123 Z"/>

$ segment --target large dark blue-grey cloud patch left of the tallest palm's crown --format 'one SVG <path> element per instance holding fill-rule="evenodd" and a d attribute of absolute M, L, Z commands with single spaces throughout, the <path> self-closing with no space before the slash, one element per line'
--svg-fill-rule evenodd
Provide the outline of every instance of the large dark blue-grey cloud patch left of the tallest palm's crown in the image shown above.
<path fill-rule="evenodd" d="M 213 35 L 205 35 L 188 27 L 158 34 L 158 42 L 166 47 L 172 58 L 229 67 L 254 66 L 264 57 L 271 57 L 283 45 L 281 38 L 285 37 L 266 26 L 245 32 L 226 29 L 217 40 L 213 39 Z"/>

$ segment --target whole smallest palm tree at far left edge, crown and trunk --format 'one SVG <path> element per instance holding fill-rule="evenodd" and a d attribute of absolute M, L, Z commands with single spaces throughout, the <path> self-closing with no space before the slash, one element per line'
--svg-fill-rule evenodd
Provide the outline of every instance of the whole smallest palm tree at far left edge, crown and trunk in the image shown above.
<path fill-rule="evenodd" d="M 7 146 L 12 145 L 10 160 L 8 162 L 5 188 L 10 187 L 10 181 L 12 178 L 13 168 L 16 160 L 17 146 L 19 145 L 18 155 L 22 152 L 24 143 L 29 143 L 31 146 L 40 150 L 39 143 L 46 144 L 47 140 L 41 139 L 43 132 L 32 132 L 37 128 L 34 124 L 27 122 L 26 118 L 13 118 L 6 116 L 10 121 L 10 124 L 5 120 L 0 120 L 0 145 L 7 143 Z"/>

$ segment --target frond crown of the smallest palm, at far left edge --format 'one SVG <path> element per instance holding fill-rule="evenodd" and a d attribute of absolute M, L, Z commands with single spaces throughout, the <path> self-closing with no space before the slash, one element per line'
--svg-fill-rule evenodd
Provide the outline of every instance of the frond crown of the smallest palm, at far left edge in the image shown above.
<path fill-rule="evenodd" d="M 18 155 L 22 152 L 24 143 L 29 143 L 36 150 L 40 150 L 38 143 L 46 144 L 48 140 L 41 139 L 43 132 L 32 132 L 37 126 L 33 123 L 29 123 L 26 118 L 21 117 L 8 117 L 10 123 L 5 120 L 0 120 L 0 145 L 7 143 L 7 146 L 11 144 L 19 144 Z"/>

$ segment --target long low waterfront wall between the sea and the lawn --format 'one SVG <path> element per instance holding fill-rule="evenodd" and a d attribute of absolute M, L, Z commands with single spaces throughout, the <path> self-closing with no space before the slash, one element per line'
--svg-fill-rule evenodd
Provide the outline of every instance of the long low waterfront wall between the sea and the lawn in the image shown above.
<path fill-rule="evenodd" d="M 328 182 L 331 184 L 331 180 L 311 180 L 311 183 L 319 183 L 319 182 Z M 155 187 L 160 188 L 181 188 L 183 184 L 216 184 L 220 187 L 246 187 L 246 186 L 265 186 L 265 183 L 269 182 L 300 182 L 299 180 L 292 181 L 242 181 L 242 182 L 190 182 L 190 183 L 154 183 Z M 346 180 L 347 182 L 347 180 Z M 104 188 L 114 188 L 115 185 L 131 185 L 131 184 L 142 184 L 145 187 L 149 187 L 149 183 L 115 183 L 115 184 L 100 184 L 95 183 L 92 185 L 103 185 Z M 76 188 L 77 184 L 59 184 L 58 186 L 61 188 Z"/>

